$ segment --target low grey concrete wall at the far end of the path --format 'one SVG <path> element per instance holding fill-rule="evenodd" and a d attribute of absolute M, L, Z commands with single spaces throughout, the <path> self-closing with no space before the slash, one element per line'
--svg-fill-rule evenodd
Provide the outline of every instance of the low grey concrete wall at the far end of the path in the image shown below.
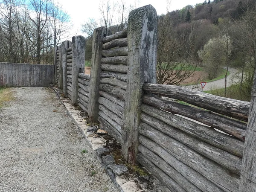
<path fill-rule="evenodd" d="M 54 65 L 0 63 L 0 86 L 49 87 L 54 81 Z"/>

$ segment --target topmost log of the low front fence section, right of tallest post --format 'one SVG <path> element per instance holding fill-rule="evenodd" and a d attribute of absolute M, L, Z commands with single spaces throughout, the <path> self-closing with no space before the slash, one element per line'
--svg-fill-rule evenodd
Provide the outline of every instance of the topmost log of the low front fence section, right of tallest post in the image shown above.
<path fill-rule="evenodd" d="M 248 120 L 250 102 L 215 96 L 175 85 L 145 83 L 143 85 L 143 90 L 145 93 L 153 93 L 173 99 L 179 99 L 192 105 L 242 121 Z"/>

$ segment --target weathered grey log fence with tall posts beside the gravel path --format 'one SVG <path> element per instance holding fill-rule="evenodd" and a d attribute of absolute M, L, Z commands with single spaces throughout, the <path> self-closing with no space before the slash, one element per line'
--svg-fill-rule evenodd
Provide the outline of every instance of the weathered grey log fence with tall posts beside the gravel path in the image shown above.
<path fill-rule="evenodd" d="M 77 36 L 55 47 L 56 83 L 122 145 L 128 163 L 141 163 L 172 192 L 255 191 L 255 82 L 251 106 L 156 84 L 151 5 L 133 10 L 121 32 L 94 30 L 90 76 L 83 73 L 84 46 Z"/>

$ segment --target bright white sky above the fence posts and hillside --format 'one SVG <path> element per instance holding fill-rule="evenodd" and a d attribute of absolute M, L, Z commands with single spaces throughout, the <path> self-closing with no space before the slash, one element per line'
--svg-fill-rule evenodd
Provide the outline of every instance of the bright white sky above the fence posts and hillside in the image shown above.
<path fill-rule="evenodd" d="M 81 24 L 85 23 L 87 19 L 101 17 L 99 12 L 99 4 L 102 0 L 55 0 L 59 1 L 62 8 L 67 11 L 73 23 L 72 35 L 84 35 L 81 32 Z M 107 0 L 105 0 L 107 1 Z M 167 0 L 126 0 L 126 3 L 137 7 L 151 4 L 157 10 L 157 15 L 166 13 Z M 170 0 L 169 0 L 170 1 Z M 203 3 L 204 0 L 171 0 L 169 11 L 182 9 L 186 5 L 195 5 Z M 135 5 L 137 4 L 137 5 Z"/>

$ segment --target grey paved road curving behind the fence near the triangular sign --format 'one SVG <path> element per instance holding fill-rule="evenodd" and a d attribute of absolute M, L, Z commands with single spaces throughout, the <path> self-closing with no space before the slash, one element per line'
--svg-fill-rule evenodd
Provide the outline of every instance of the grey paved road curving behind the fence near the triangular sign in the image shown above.
<path fill-rule="evenodd" d="M 232 84 L 232 78 L 238 72 L 237 69 L 230 68 L 230 67 L 229 67 L 228 70 L 230 72 L 230 75 L 227 76 L 227 87 L 229 87 Z M 233 81 L 238 82 L 239 80 L 237 78 L 234 78 Z M 223 87 L 225 87 L 225 78 L 224 79 L 219 79 L 217 81 L 208 82 L 204 87 L 204 91 L 212 90 L 212 89 L 215 89 L 215 88 L 219 89 L 219 88 L 223 88 Z M 191 86 L 187 86 L 187 88 L 200 90 L 200 91 L 202 90 L 202 87 L 201 87 L 200 84 L 197 87 L 191 85 Z"/>

